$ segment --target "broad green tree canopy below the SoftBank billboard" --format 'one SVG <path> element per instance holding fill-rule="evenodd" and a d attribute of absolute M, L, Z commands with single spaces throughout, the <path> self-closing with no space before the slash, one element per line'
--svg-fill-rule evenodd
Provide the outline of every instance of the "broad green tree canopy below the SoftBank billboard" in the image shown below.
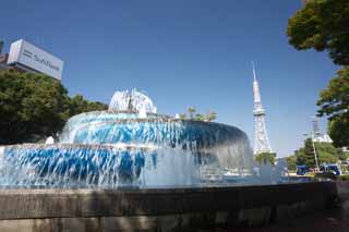
<path fill-rule="evenodd" d="M 70 98 L 56 80 L 0 71 L 0 144 L 36 142 L 55 135 L 76 113 L 107 109 L 82 96 Z"/>

